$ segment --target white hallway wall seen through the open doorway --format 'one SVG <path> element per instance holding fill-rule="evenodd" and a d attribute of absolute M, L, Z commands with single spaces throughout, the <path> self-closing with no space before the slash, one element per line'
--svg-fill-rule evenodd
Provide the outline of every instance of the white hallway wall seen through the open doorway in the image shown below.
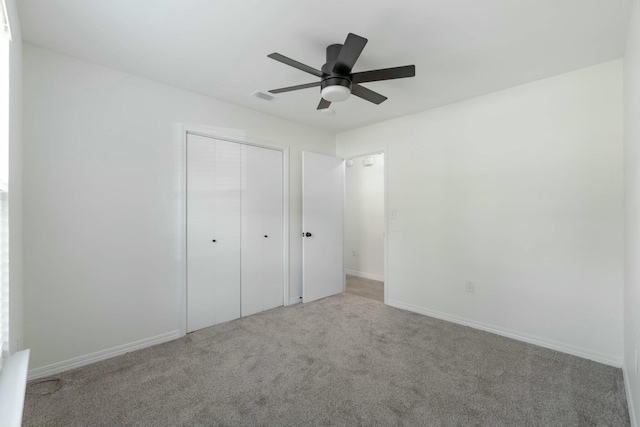
<path fill-rule="evenodd" d="M 384 280 L 384 154 L 367 157 L 375 163 L 364 166 L 359 157 L 346 168 L 345 268 Z"/>

